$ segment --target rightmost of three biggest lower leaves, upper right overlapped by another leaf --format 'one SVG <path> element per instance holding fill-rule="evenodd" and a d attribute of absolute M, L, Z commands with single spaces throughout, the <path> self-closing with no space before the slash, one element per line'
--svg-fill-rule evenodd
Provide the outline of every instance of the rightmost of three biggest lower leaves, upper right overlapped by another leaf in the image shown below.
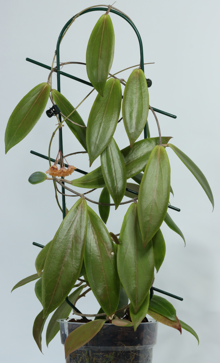
<path fill-rule="evenodd" d="M 118 274 L 136 314 L 152 284 L 154 259 L 152 242 L 143 249 L 135 203 L 124 216 L 119 242 Z"/>

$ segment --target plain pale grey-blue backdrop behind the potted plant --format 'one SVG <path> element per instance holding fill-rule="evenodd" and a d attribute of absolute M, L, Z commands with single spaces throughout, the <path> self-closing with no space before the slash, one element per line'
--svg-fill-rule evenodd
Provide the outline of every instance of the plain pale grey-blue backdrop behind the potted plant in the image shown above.
<path fill-rule="evenodd" d="M 21 143 L 5 156 L 4 131 L 10 114 L 24 95 L 45 82 L 48 70 L 25 61 L 32 58 L 51 65 L 56 41 L 64 24 L 92 1 L 8 0 L 1 7 L 1 362 L 60 363 L 64 350 L 59 334 L 42 349 L 32 337 L 35 317 L 42 310 L 31 282 L 10 294 L 22 278 L 35 273 L 34 262 L 39 248 L 50 241 L 62 221 L 49 181 L 31 185 L 27 179 L 34 171 L 45 172 L 48 162 L 31 155 L 30 150 L 47 154 L 55 129 L 55 118 L 44 113 L 37 125 Z M 186 331 L 161 325 L 154 349 L 154 363 L 217 362 L 219 356 L 219 1 L 215 0 L 118 0 L 115 7 L 127 13 L 139 29 L 143 40 L 145 75 L 153 81 L 149 89 L 150 104 L 177 115 L 172 119 L 158 114 L 162 135 L 173 136 L 172 142 L 183 150 L 206 175 L 215 198 L 215 209 L 203 189 L 172 150 L 171 184 L 174 199 L 170 202 L 181 212 L 169 211 L 186 238 L 186 248 L 177 234 L 166 225 L 166 257 L 155 286 L 179 295 L 183 302 L 168 298 L 177 316 L 191 325 L 200 344 Z M 60 47 L 61 61 L 85 62 L 90 33 L 102 12 L 81 16 L 71 26 Z M 140 61 L 139 44 L 131 26 L 111 15 L 115 30 L 115 57 L 112 72 Z M 88 79 L 85 66 L 68 65 L 64 72 Z M 121 77 L 128 78 L 130 71 Z M 56 76 L 53 77 L 56 88 Z M 123 86 L 122 86 L 123 87 Z M 77 105 L 90 87 L 61 76 L 61 91 Z M 79 108 L 87 123 L 94 92 Z M 51 103 L 48 102 L 48 107 Z M 151 136 L 157 136 L 155 120 L 149 115 Z M 123 123 L 117 126 L 115 139 L 120 148 L 128 138 Z M 143 138 L 143 134 L 140 139 Z M 63 128 L 64 154 L 83 148 Z M 56 156 L 58 137 L 52 143 Z M 89 171 L 88 155 L 72 156 L 69 163 Z M 93 163 L 94 169 L 100 159 Z M 76 172 L 73 178 L 81 175 Z M 98 200 L 100 191 L 93 193 Z M 127 198 L 125 198 L 126 200 Z M 71 208 L 75 199 L 67 198 Z M 97 211 L 96 206 L 92 206 Z M 110 212 L 107 228 L 119 233 L 127 206 Z M 92 293 L 78 302 L 87 313 L 99 306 Z M 49 321 L 49 319 L 48 319 Z"/>

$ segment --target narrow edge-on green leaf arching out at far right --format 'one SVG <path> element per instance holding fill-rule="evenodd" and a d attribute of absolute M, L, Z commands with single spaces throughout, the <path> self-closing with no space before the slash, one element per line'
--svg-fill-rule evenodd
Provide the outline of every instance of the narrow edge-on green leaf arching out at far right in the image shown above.
<path fill-rule="evenodd" d="M 184 152 L 178 149 L 178 147 L 174 146 L 173 144 L 168 144 L 170 148 L 177 154 L 179 159 L 183 162 L 183 164 L 186 165 L 186 167 L 191 171 L 191 173 L 195 176 L 195 178 L 198 180 L 199 184 L 202 186 L 204 191 L 207 194 L 208 199 L 212 203 L 212 207 L 214 209 L 214 199 L 212 195 L 212 191 L 210 188 L 210 185 L 208 184 L 208 181 L 202 171 L 196 166 L 196 164 L 191 160 Z"/>

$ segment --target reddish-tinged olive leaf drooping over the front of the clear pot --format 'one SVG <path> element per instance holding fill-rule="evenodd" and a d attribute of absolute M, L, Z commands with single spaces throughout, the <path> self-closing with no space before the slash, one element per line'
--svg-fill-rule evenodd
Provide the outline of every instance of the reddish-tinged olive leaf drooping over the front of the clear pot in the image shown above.
<path fill-rule="evenodd" d="M 65 341 L 65 358 L 91 340 L 100 331 L 105 322 L 106 320 L 103 319 L 93 320 L 73 330 Z"/>

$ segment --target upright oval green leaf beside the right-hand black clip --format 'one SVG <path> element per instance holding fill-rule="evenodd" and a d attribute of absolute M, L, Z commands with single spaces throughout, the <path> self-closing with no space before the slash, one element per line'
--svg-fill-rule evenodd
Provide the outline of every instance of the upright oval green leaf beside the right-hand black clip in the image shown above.
<path fill-rule="evenodd" d="M 122 101 L 124 127 L 132 147 L 147 122 L 149 94 L 142 69 L 134 69 L 126 83 Z"/>

